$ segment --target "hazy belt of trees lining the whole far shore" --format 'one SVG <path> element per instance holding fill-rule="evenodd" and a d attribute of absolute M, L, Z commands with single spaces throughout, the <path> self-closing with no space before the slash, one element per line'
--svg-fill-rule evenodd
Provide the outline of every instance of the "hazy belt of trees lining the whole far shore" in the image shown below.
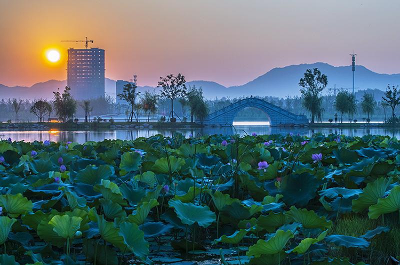
<path fill-rule="evenodd" d="M 369 122 L 372 115 L 377 120 L 387 123 L 398 123 L 396 106 L 400 103 L 398 87 L 387 86 L 386 91 L 368 89 L 356 91 L 339 90 L 332 94 L 326 92 L 327 76 L 317 68 L 307 69 L 299 80 L 300 96 L 256 96 L 271 102 L 293 113 L 309 113 L 310 121 L 328 120 L 343 122 L 356 119 Z M 159 92 L 143 91 L 137 88 L 137 76 L 132 83 L 124 86 L 122 93 L 117 97 L 125 103 L 114 103 L 110 97 L 99 97 L 90 100 L 75 100 L 70 94 L 70 88 L 65 87 L 53 92 L 50 101 L 45 99 L 21 100 L 1 99 L 0 120 L 11 122 L 10 113 L 14 113 L 14 120 L 30 120 L 35 117 L 38 121 L 45 121 L 55 115 L 60 121 L 73 120 L 76 116 L 84 116 L 84 121 L 90 121 L 91 116 L 111 113 L 125 114 L 126 121 L 139 121 L 139 116 L 145 114 L 150 121 L 150 114 L 158 114 L 160 121 L 195 121 L 203 120 L 209 112 L 216 111 L 241 98 L 205 99 L 201 87 L 186 86 L 185 77 L 178 73 L 160 77 L 157 87 Z M 324 93 L 324 94 L 323 94 Z M 378 100 L 378 101 L 377 101 Z M 186 111 L 189 109 L 189 111 Z M 391 113 L 390 113 L 391 112 Z M 362 116 L 362 115 L 365 116 Z M 22 117 L 22 118 L 21 118 Z M 324 118 L 325 117 L 325 118 Z M 259 109 L 245 108 L 238 112 L 238 120 L 263 120 L 265 114 Z M 157 118 L 158 119 L 158 118 Z M 97 120 L 97 119 L 96 119 Z M 75 119 L 76 121 L 76 119 Z"/>

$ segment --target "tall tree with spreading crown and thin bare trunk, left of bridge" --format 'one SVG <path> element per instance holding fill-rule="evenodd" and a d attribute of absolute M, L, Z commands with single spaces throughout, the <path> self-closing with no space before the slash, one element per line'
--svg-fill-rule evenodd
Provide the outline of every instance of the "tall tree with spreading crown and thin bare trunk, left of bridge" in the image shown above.
<path fill-rule="evenodd" d="M 186 80 L 181 73 L 176 76 L 168 74 L 165 77 L 159 77 L 157 87 L 162 87 L 161 96 L 171 100 L 171 118 L 170 121 L 174 122 L 176 119 L 173 117 L 173 100 L 178 97 L 183 97 L 186 94 Z"/>

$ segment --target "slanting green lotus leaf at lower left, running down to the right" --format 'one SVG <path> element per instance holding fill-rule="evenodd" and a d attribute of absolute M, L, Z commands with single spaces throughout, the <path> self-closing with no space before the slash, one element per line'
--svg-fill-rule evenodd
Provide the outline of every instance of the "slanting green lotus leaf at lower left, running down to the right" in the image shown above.
<path fill-rule="evenodd" d="M 119 228 L 115 227 L 113 222 L 104 220 L 102 215 L 97 214 L 95 208 L 89 210 L 89 218 L 97 222 L 99 233 L 105 241 L 110 242 L 122 251 L 124 250 L 123 237 L 119 235 Z"/>

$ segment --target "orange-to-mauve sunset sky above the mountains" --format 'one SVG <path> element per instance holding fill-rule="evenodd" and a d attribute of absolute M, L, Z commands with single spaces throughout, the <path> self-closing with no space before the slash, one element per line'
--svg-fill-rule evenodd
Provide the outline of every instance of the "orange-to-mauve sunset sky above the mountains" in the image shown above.
<path fill-rule="evenodd" d="M 156 85 L 187 80 L 245 83 L 273 67 L 323 61 L 400 72 L 398 0 L 1 0 L 0 83 L 65 79 L 65 50 L 94 40 L 105 75 Z M 48 48 L 61 61 L 43 58 Z"/>

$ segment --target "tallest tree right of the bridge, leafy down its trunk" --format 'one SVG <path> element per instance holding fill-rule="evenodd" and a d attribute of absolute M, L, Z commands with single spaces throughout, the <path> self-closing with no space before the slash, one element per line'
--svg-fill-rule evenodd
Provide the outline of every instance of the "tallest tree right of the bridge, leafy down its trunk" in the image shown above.
<path fill-rule="evenodd" d="M 304 77 L 298 82 L 298 85 L 303 87 L 300 89 L 303 106 L 311 112 L 311 123 L 315 121 L 315 118 L 321 120 L 323 108 L 320 92 L 327 83 L 327 76 L 322 74 L 318 68 L 307 69 Z"/>

